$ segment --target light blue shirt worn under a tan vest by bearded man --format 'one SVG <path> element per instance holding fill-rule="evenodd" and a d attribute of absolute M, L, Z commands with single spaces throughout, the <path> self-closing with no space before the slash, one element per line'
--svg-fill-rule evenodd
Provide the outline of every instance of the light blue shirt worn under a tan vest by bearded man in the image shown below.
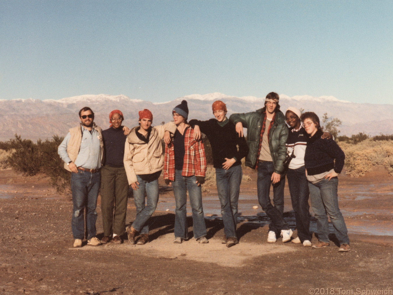
<path fill-rule="evenodd" d="M 67 146 L 70 137 L 71 135 L 68 133 L 57 149 L 57 153 L 60 158 L 66 163 L 71 161 L 67 153 Z M 75 165 L 86 169 L 101 168 L 101 147 L 99 143 L 99 133 L 97 130 L 92 129 L 92 133 L 90 133 L 90 131 L 83 128 L 81 147 L 79 149 L 78 156 L 74 161 Z"/>

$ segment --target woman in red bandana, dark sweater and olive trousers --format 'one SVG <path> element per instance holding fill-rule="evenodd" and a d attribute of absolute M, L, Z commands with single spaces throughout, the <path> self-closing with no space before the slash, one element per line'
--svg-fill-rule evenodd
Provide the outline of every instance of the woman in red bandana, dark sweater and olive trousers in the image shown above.
<path fill-rule="evenodd" d="M 130 129 L 123 127 L 123 113 L 114 110 L 109 114 L 110 127 L 102 132 L 105 163 L 101 168 L 101 212 L 104 237 L 101 243 L 120 244 L 125 232 L 128 182 L 123 156 L 124 144 Z"/>

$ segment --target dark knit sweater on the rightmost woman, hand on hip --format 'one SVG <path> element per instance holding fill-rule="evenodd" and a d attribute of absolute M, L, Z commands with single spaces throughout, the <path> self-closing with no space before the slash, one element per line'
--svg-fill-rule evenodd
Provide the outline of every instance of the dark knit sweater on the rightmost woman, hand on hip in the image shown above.
<path fill-rule="evenodd" d="M 308 175 L 316 175 L 331 169 L 340 173 L 344 167 L 345 154 L 332 139 L 322 139 L 323 132 L 319 129 L 307 138 L 304 163 Z"/>

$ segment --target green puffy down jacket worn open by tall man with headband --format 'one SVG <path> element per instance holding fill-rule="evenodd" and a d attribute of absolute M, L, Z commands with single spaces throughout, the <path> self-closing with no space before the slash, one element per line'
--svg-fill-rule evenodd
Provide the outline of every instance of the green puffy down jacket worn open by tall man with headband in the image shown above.
<path fill-rule="evenodd" d="M 246 166 L 255 169 L 257 164 L 259 140 L 261 137 L 261 130 L 263 125 L 265 113 L 262 109 L 255 112 L 248 112 L 244 114 L 231 114 L 229 120 L 236 125 L 242 122 L 243 127 L 247 128 L 247 144 L 250 151 L 246 157 Z M 267 130 L 268 126 L 266 126 Z M 270 129 L 269 134 L 269 148 L 272 155 L 274 172 L 283 174 L 283 162 L 286 156 L 286 138 L 288 137 L 288 127 L 285 124 L 285 117 L 281 111 L 277 111 L 274 118 L 274 123 Z"/>

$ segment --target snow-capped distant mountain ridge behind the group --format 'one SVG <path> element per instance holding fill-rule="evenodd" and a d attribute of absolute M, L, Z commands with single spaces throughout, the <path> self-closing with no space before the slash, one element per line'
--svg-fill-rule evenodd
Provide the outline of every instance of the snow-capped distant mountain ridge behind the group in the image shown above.
<path fill-rule="evenodd" d="M 0 140 L 13 138 L 15 134 L 37 140 L 51 138 L 53 135 L 65 136 L 68 129 L 79 123 L 78 111 L 90 107 L 95 113 L 95 122 L 103 129 L 109 127 L 109 113 L 114 109 L 123 112 L 124 125 L 138 125 L 138 111 L 149 109 L 153 113 L 153 125 L 172 120 L 171 111 L 182 100 L 187 100 L 189 119 L 208 120 L 213 118 L 211 104 L 214 100 L 226 103 L 228 115 L 237 112 L 251 112 L 264 105 L 264 98 L 254 96 L 235 97 L 222 93 L 192 94 L 173 101 L 152 103 L 135 100 L 124 95 L 81 95 L 60 100 L 0 100 Z M 281 111 L 289 106 L 304 111 L 313 111 L 320 116 L 328 116 L 342 121 L 339 135 L 351 136 L 363 132 L 369 135 L 393 134 L 393 105 L 371 103 L 352 103 L 340 101 L 333 96 L 293 96 L 280 95 Z"/>

